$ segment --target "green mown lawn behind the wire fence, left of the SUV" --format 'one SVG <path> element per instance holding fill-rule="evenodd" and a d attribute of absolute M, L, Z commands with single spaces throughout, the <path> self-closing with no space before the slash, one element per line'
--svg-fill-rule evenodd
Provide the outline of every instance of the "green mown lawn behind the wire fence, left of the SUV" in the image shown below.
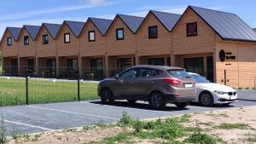
<path fill-rule="evenodd" d="M 97 84 L 80 83 L 80 100 L 95 100 Z M 29 104 L 78 101 L 78 84 L 75 81 L 28 81 Z M 0 78 L 0 106 L 26 104 L 25 78 Z"/>

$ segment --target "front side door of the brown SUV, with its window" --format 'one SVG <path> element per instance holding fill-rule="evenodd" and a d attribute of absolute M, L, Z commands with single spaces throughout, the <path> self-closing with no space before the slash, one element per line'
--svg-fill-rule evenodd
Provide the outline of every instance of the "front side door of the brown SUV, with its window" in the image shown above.
<path fill-rule="evenodd" d="M 133 95 L 133 89 L 135 89 L 139 72 L 139 68 L 132 68 L 120 74 L 114 86 L 117 99 L 132 100 L 131 96 Z"/>

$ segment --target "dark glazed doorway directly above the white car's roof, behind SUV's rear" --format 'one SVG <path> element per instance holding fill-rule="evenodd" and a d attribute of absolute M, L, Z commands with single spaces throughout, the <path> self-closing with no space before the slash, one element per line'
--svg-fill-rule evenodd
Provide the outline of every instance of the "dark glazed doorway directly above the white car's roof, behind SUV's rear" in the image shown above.
<path fill-rule="evenodd" d="M 204 58 L 185 58 L 184 68 L 187 72 L 194 72 L 204 76 Z"/>

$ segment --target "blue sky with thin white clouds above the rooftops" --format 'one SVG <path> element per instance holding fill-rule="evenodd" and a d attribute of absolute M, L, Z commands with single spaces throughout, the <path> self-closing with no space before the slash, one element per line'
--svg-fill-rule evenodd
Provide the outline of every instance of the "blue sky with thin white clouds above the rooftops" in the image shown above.
<path fill-rule="evenodd" d="M 0 37 L 6 26 L 61 24 L 88 17 L 113 19 L 115 14 L 145 16 L 149 9 L 182 14 L 188 5 L 235 13 L 256 27 L 255 0 L 7 0 L 0 5 Z"/>

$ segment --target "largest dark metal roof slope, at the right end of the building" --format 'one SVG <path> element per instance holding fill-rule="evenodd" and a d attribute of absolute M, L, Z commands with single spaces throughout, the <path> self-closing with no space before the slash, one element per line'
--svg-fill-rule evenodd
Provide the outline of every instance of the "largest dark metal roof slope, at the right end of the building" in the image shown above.
<path fill-rule="evenodd" d="M 253 32 L 253 29 L 236 14 L 194 6 L 189 8 L 224 40 L 256 42 L 256 32 Z"/>

